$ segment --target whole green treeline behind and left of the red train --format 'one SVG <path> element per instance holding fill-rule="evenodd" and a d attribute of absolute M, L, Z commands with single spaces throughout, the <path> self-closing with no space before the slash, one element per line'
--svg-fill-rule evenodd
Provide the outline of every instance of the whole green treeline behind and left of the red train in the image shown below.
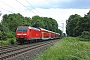
<path fill-rule="evenodd" d="M 24 17 L 21 14 L 5 14 L 0 23 L 0 40 L 7 40 L 7 38 L 15 37 L 15 31 L 18 26 L 29 25 L 32 27 L 41 27 L 53 32 L 62 33 L 58 29 L 58 23 L 53 18 L 33 16 Z"/>

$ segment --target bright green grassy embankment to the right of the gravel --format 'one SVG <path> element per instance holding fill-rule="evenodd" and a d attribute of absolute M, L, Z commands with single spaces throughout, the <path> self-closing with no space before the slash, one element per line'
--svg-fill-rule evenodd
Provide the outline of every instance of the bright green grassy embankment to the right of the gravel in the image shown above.
<path fill-rule="evenodd" d="M 90 60 L 90 41 L 65 37 L 34 60 Z"/>

